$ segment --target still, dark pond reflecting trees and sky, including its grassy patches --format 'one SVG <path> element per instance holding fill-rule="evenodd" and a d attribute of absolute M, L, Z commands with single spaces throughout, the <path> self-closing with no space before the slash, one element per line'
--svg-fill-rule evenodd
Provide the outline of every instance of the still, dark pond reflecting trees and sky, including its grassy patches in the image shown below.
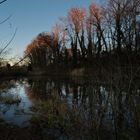
<path fill-rule="evenodd" d="M 60 128 L 69 139 L 140 137 L 139 85 L 128 90 L 127 83 L 36 77 L 6 80 L 0 87 L 0 118 L 8 124 L 39 123 L 49 133 Z"/>

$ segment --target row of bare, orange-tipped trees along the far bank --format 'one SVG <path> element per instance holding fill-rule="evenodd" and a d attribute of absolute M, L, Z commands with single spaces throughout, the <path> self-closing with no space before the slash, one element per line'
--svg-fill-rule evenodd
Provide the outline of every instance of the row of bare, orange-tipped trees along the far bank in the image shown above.
<path fill-rule="evenodd" d="M 123 54 L 140 54 L 140 0 L 108 0 L 99 6 L 73 7 L 51 33 L 40 33 L 26 47 L 33 66 L 91 64 Z"/>

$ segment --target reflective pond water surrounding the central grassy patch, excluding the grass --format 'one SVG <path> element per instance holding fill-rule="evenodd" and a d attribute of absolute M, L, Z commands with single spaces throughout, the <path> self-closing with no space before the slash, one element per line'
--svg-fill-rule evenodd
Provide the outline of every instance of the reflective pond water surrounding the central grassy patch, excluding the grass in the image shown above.
<path fill-rule="evenodd" d="M 11 82 L 11 81 L 9 81 Z M 70 109 L 75 108 L 89 128 L 90 138 L 139 139 L 140 89 L 94 82 L 91 79 L 29 78 L 14 81 L 2 94 L 18 94 L 19 104 L 0 103 L 0 116 L 9 123 L 24 126 L 36 112 L 38 101 L 57 94 Z M 135 86 L 136 87 L 136 86 Z M 139 85 L 137 85 L 139 87 Z M 86 139 L 90 139 L 89 137 Z M 85 138 L 81 138 L 85 139 Z"/>

